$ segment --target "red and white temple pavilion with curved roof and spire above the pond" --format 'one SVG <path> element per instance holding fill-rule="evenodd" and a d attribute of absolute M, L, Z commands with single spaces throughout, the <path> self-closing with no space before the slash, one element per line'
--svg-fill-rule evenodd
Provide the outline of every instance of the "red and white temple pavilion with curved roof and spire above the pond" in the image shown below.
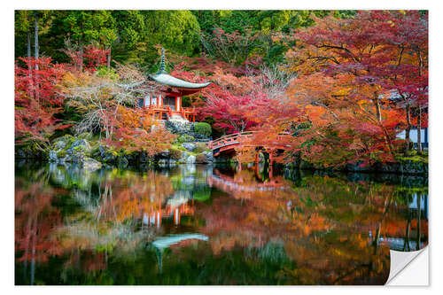
<path fill-rule="evenodd" d="M 144 108 L 158 120 L 189 120 L 195 122 L 197 112 L 182 106 L 183 96 L 204 89 L 211 82 L 192 83 L 175 78 L 165 72 L 165 50 L 161 50 L 160 68 L 148 79 L 159 84 L 158 93 L 136 98 L 136 107 Z"/>

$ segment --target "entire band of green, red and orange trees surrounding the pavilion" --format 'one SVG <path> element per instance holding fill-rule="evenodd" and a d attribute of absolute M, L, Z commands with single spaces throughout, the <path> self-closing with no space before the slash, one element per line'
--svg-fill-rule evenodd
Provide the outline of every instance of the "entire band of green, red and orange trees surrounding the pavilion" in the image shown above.
<path fill-rule="evenodd" d="M 427 12 L 16 11 L 16 143 L 87 130 L 165 148 L 174 136 L 146 131 L 156 123 L 133 107 L 154 85 L 121 87 L 155 73 L 161 48 L 170 74 L 213 82 L 183 106 L 215 137 L 256 130 L 284 159 L 395 161 L 427 127 Z"/>

